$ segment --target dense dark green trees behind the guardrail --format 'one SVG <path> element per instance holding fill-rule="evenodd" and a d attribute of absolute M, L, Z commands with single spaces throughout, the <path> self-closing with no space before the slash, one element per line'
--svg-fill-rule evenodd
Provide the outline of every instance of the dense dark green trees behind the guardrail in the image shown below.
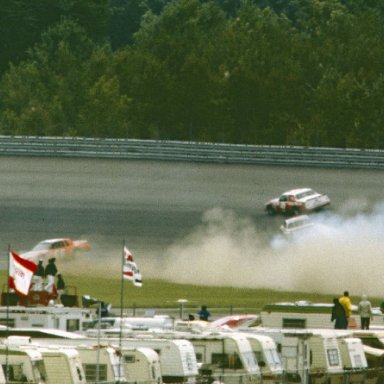
<path fill-rule="evenodd" d="M 384 148 L 381 0 L 0 0 L 0 134 Z"/>

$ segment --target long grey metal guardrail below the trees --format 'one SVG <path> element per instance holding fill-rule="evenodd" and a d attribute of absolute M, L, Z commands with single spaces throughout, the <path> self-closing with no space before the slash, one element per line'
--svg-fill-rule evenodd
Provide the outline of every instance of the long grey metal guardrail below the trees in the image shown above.
<path fill-rule="evenodd" d="M 0 136 L 0 156 L 194 161 L 384 169 L 384 151 L 163 140 Z"/>

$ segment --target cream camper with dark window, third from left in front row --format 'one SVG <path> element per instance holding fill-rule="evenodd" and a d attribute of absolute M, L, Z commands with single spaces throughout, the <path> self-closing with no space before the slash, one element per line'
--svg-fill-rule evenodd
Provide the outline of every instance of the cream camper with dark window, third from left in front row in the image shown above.
<path fill-rule="evenodd" d="M 87 383 L 126 383 L 124 364 L 116 349 L 107 346 L 77 346 Z"/>

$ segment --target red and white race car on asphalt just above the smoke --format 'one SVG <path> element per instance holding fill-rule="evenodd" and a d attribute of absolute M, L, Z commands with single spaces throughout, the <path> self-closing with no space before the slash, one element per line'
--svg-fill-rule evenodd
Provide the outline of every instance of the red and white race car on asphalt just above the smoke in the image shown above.
<path fill-rule="evenodd" d="M 265 204 L 269 215 L 286 213 L 299 215 L 305 212 L 318 211 L 331 203 L 327 195 L 315 192 L 310 188 L 298 188 L 284 192 L 280 197 Z"/>

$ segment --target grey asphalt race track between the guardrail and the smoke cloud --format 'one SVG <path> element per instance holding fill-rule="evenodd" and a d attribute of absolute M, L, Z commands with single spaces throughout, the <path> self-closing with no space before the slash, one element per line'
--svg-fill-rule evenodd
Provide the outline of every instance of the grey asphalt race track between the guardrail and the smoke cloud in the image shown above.
<path fill-rule="evenodd" d="M 8 246 L 22 252 L 68 236 L 100 249 L 126 242 L 135 252 L 161 257 L 214 208 L 273 234 L 282 218 L 268 217 L 264 203 L 295 187 L 327 193 L 340 215 L 368 212 L 383 201 L 383 176 L 374 170 L 2 157 L 0 249 L 5 259 Z"/>

